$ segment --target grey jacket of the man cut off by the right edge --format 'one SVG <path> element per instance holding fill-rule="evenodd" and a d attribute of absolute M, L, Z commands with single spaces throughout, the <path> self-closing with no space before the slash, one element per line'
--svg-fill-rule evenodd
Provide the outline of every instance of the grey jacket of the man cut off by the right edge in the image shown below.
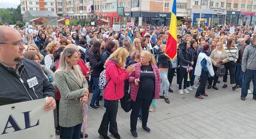
<path fill-rule="evenodd" d="M 256 70 L 256 45 L 249 44 L 245 47 L 242 58 L 242 70 Z"/>

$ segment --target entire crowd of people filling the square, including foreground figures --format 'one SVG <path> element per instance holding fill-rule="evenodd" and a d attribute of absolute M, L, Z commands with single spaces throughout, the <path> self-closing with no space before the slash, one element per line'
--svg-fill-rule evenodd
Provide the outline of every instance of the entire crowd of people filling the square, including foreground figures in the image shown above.
<path fill-rule="evenodd" d="M 197 99 L 208 97 L 205 88 L 219 90 L 219 76 L 223 77 L 222 88 L 227 88 L 229 75 L 231 89 L 242 88 L 241 100 L 245 100 L 252 94 L 252 79 L 256 100 L 256 32 L 250 27 L 238 26 L 233 34 L 229 26 L 177 27 L 177 50 L 176 46 L 172 50 L 177 51 L 175 59 L 165 55 L 169 28 L 163 26 L 125 27 L 120 31 L 104 25 L 35 26 L 31 34 L 26 28 L 9 28 L 0 27 L 0 77 L 8 79 L 1 82 L 0 105 L 49 97 L 45 109 L 56 107 L 56 134 L 63 139 L 81 137 L 83 104 L 97 110 L 102 99 L 106 110 L 98 133 L 110 138 L 109 131 L 121 138 L 116 116 L 118 101 L 125 92 L 131 96 L 131 135 L 138 137 L 138 120 L 150 133 L 149 111 L 157 110 L 158 99 L 172 103 L 168 92 L 174 92 L 175 76 L 177 93 L 197 89 Z M 99 88 L 102 72 L 108 81 L 104 90 Z M 32 77 L 37 78 L 38 85 L 31 87 L 25 81 Z M 16 85 L 9 88 L 8 84 Z M 6 95 L 9 89 L 13 96 Z"/>

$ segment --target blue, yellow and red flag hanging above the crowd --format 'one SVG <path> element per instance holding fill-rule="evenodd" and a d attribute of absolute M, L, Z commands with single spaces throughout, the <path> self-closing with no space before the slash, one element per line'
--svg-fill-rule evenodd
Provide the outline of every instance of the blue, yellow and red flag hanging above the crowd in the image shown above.
<path fill-rule="evenodd" d="M 175 59 L 175 57 L 177 56 L 176 0 L 174 0 L 172 15 L 170 17 L 169 36 L 166 43 L 165 55 L 171 59 Z"/>

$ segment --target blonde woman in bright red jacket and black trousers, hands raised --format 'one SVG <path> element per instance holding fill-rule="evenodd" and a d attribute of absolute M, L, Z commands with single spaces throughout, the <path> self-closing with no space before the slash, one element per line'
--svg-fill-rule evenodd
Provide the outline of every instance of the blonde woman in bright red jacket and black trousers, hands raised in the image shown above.
<path fill-rule="evenodd" d="M 104 99 L 108 102 L 106 111 L 103 115 L 98 133 L 100 137 L 109 139 L 108 127 L 110 127 L 110 133 L 115 138 L 121 138 L 117 131 L 116 114 L 118 109 L 118 100 L 124 96 L 124 80 L 128 78 L 129 73 L 133 72 L 135 67 L 133 65 L 124 70 L 126 57 L 129 56 L 129 52 L 124 48 L 117 49 L 106 60 L 106 80 L 110 78 L 109 84 L 104 90 Z"/>

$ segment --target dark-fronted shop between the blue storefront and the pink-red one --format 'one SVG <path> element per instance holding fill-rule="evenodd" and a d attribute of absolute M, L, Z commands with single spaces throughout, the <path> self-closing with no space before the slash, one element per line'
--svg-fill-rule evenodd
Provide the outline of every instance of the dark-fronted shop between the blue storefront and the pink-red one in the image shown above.
<path fill-rule="evenodd" d="M 230 25 L 230 24 L 240 25 L 240 20 L 241 20 L 240 15 L 241 15 L 240 11 L 227 11 L 226 25 Z"/>

